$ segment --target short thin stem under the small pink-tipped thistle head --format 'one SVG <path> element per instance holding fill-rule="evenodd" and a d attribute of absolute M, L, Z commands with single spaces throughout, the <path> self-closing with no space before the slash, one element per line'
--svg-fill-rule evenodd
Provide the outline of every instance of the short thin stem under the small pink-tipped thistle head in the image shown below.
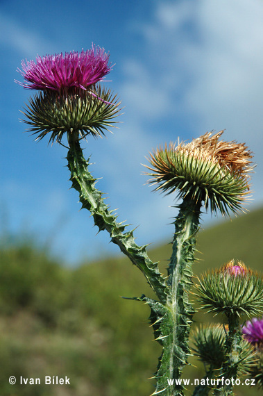
<path fill-rule="evenodd" d="M 233 395 L 233 388 L 235 379 L 237 379 L 237 372 L 239 370 L 240 356 L 242 351 L 242 333 L 239 326 L 239 317 L 237 313 L 230 313 L 228 315 L 229 331 L 226 334 L 226 361 L 223 363 L 220 379 L 221 386 L 214 390 L 214 395 L 229 396 Z M 225 383 L 226 379 L 230 383 Z"/>

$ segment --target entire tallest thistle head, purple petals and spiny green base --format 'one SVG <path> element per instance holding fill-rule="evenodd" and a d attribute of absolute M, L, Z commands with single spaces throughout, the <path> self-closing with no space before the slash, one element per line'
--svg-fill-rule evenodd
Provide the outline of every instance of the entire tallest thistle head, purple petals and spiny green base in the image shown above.
<path fill-rule="evenodd" d="M 110 72 L 109 54 L 93 47 L 80 53 L 72 51 L 37 57 L 36 63 L 22 61 L 19 72 L 28 83 L 24 88 L 40 90 L 29 99 L 24 112 L 28 131 L 42 139 L 50 133 L 49 142 L 61 142 L 102 136 L 114 126 L 119 113 L 116 95 L 98 84 Z"/>

